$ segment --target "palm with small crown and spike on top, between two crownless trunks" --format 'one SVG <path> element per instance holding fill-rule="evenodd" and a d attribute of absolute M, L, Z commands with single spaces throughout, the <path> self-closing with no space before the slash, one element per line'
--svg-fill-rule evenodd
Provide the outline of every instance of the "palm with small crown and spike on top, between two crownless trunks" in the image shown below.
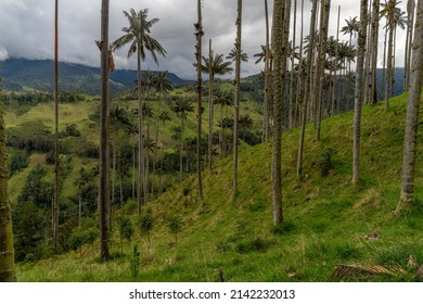
<path fill-rule="evenodd" d="M 214 54 L 211 50 L 210 39 L 210 51 L 209 56 L 203 56 L 203 73 L 208 73 L 208 169 L 211 170 L 213 166 L 213 122 L 214 122 L 214 91 L 215 91 L 215 77 L 216 75 L 225 75 L 232 72 L 230 66 L 231 62 L 223 61 L 223 54 Z"/>

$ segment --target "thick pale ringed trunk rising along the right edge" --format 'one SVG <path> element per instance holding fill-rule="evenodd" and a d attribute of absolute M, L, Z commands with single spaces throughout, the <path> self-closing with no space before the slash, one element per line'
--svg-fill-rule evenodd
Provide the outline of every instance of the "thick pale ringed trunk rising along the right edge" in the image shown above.
<path fill-rule="evenodd" d="M 423 0 L 418 1 L 414 42 L 412 51 L 413 69 L 407 104 L 406 136 L 403 141 L 401 195 L 397 211 L 409 210 L 414 198 L 414 172 L 419 128 L 419 107 L 423 86 Z"/>

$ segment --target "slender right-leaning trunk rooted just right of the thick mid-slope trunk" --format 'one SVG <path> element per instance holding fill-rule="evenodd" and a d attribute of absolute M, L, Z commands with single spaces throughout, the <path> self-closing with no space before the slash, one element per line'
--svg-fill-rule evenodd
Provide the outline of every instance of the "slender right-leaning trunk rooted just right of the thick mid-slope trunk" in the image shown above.
<path fill-rule="evenodd" d="M 308 52 L 307 52 L 307 66 L 306 66 L 306 84 L 305 84 L 305 91 L 304 91 L 304 102 L 303 102 L 303 109 L 302 109 L 302 131 L 299 135 L 299 144 L 298 144 L 298 157 L 297 157 L 297 176 L 299 177 L 303 174 L 303 154 L 304 154 L 304 139 L 306 135 L 306 124 L 307 124 L 307 107 L 308 107 L 308 100 L 310 99 L 310 87 L 311 87 L 311 71 L 312 71 L 312 61 L 313 61 L 313 48 L 315 48 L 315 26 L 316 26 L 316 18 L 317 18 L 317 4 L 318 0 L 312 1 L 312 8 L 311 8 L 311 21 L 310 21 L 310 40 L 308 45 Z"/>

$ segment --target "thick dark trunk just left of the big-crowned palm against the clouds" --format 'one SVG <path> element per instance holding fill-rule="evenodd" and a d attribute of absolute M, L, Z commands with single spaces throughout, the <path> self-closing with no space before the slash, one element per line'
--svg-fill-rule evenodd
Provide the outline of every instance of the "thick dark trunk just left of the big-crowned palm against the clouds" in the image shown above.
<path fill-rule="evenodd" d="M 100 105 L 100 254 L 108 258 L 108 0 L 101 2 L 101 105 Z"/>

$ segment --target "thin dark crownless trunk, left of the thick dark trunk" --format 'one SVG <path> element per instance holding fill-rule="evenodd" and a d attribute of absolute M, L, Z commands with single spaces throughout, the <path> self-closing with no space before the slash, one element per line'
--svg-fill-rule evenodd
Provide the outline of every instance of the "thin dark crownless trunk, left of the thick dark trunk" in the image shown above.
<path fill-rule="evenodd" d="M 59 0 L 54 1 L 54 207 L 53 252 L 59 245 Z"/>

